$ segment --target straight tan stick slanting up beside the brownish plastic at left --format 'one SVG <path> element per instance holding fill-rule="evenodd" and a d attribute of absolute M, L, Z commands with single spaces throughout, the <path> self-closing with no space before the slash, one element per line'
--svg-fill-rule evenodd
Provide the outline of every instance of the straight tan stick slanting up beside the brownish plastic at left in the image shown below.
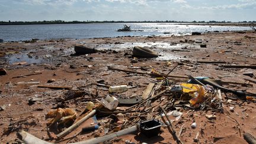
<path fill-rule="evenodd" d="M 83 117 L 81 120 L 77 121 L 76 123 L 74 123 L 72 126 L 68 127 L 68 129 L 64 130 L 63 132 L 59 133 L 57 135 L 57 137 L 59 139 L 61 139 L 62 137 L 68 135 L 69 132 L 71 132 L 73 129 L 75 129 L 76 127 L 80 126 L 80 124 L 84 123 L 84 121 L 88 120 L 89 118 L 91 118 L 92 116 L 94 116 L 94 114 L 96 113 L 97 110 L 92 110 L 90 113 L 87 114 L 87 116 Z"/>

